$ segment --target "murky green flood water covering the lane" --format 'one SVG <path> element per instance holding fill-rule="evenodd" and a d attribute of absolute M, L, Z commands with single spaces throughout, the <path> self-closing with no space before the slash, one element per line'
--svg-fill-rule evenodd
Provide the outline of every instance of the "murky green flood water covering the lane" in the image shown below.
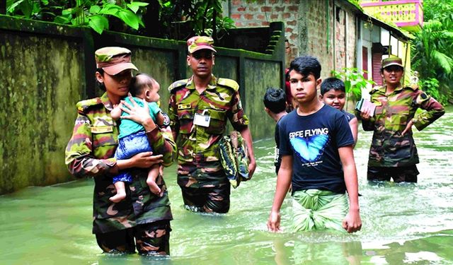
<path fill-rule="evenodd" d="M 232 190 L 226 215 L 186 211 L 176 167 L 166 168 L 174 216 L 170 258 L 101 254 L 91 235 L 93 182 L 83 179 L 0 196 L 0 264 L 453 264 L 452 111 L 415 131 L 418 184 L 369 184 L 372 134 L 359 128 L 355 160 L 363 228 L 353 235 L 267 232 L 275 190 L 270 138 L 255 143 L 256 174 Z M 282 206 L 287 231 L 289 202 L 287 196 Z"/>

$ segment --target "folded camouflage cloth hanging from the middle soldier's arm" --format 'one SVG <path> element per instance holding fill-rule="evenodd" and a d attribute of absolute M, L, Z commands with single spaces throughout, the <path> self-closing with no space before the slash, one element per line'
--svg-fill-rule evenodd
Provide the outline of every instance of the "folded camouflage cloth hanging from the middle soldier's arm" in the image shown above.
<path fill-rule="evenodd" d="M 230 135 L 223 136 L 219 141 L 220 161 L 225 175 L 235 189 L 241 181 L 248 178 L 248 157 L 246 141 L 239 131 L 231 131 Z"/>

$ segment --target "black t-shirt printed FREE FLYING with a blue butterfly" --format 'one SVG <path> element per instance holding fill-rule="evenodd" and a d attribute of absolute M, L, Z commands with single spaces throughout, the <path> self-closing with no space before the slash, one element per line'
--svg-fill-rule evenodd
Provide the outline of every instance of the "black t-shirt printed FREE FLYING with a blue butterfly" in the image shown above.
<path fill-rule="evenodd" d="M 292 155 L 292 190 L 346 191 L 338 148 L 354 144 L 345 114 L 324 105 L 308 116 L 294 110 L 281 119 L 280 155 Z"/>

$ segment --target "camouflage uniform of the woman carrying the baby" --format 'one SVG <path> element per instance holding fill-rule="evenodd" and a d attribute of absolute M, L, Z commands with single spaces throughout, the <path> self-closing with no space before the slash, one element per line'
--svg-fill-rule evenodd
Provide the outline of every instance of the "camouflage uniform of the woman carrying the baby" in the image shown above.
<path fill-rule="evenodd" d="M 134 228 L 138 225 L 145 225 L 146 230 L 162 228 L 155 232 L 154 239 L 167 236 L 170 232 L 169 220 L 172 219 L 168 193 L 159 197 L 152 194 L 147 185 L 146 179 L 148 169 L 128 169 L 132 175 L 132 182 L 126 187 L 127 197 L 125 200 L 114 204 L 109 200 L 115 194 L 115 187 L 112 177 L 118 173 L 118 167 L 113 155 L 118 143 L 118 128 L 116 122 L 110 117 L 113 109 L 108 100 L 107 93 L 101 98 L 93 98 L 77 103 L 78 115 L 74 125 L 74 131 L 66 148 L 66 164 L 69 172 L 75 177 L 93 177 L 95 186 L 93 194 L 93 233 L 100 237 L 128 233 L 127 228 Z M 149 142 L 156 153 L 164 155 L 164 164 L 170 165 L 173 159 L 173 152 L 176 146 L 171 136 L 164 134 L 159 129 L 147 133 Z M 167 133 L 169 134 L 169 132 Z M 166 189 L 164 179 L 161 176 L 156 180 L 161 189 Z M 117 233 L 115 233 L 117 232 Z M 146 234 L 146 232 L 144 232 Z M 110 236 L 113 238 L 115 236 Z M 136 236 L 137 237 L 137 236 Z M 98 238 L 98 242 L 100 239 Z M 102 241 L 102 240 L 101 240 Z M 111 240 L 105 240 L 108 244 Z M 137 240 L 137 249 L 141 253 L 147 253 L 149 242 Z M 108 252 L 109 249 L 134 252 L 134 245 L 131 247 L 100 247 Z M 132 237 L 133 244 L 133 237 Z M 167 239 L 168 248 L 168 239 Z M 168 249 L 154 249 L 157 252 L 165 252 Z"/>

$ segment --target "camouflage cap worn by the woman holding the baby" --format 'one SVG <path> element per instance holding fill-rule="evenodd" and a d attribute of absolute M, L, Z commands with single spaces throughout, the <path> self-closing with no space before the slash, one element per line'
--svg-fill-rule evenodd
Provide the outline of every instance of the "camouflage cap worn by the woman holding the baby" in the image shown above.
<path fill-rule="evenodd" d="M 94 52 L 96 67 L 103 69 L 110 76 L 126 69 L 139 70 L 131 62 L 132 52 L 122 47 L 103 47 Z"/>

